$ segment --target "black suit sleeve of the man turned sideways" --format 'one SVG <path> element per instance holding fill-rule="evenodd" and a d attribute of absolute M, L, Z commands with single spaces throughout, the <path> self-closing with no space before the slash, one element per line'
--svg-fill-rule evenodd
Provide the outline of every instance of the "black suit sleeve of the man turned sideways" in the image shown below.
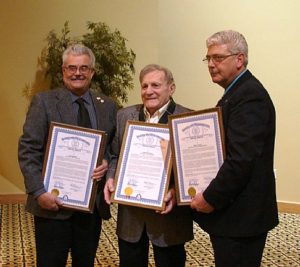
<path fill-rule="evenodd" d="M 240 90 L 240 89 L 239 89 Z M 203 192 L 205 200 L 215 209 L 226 208 L 242 194 L 250 182 L 255 162 L 262 157 L 264 140 L 268 137 L 271 110 L 265 96 L 255 88 L 240 90 L 223 107 L 226 159 L 215 179 Z"/>

